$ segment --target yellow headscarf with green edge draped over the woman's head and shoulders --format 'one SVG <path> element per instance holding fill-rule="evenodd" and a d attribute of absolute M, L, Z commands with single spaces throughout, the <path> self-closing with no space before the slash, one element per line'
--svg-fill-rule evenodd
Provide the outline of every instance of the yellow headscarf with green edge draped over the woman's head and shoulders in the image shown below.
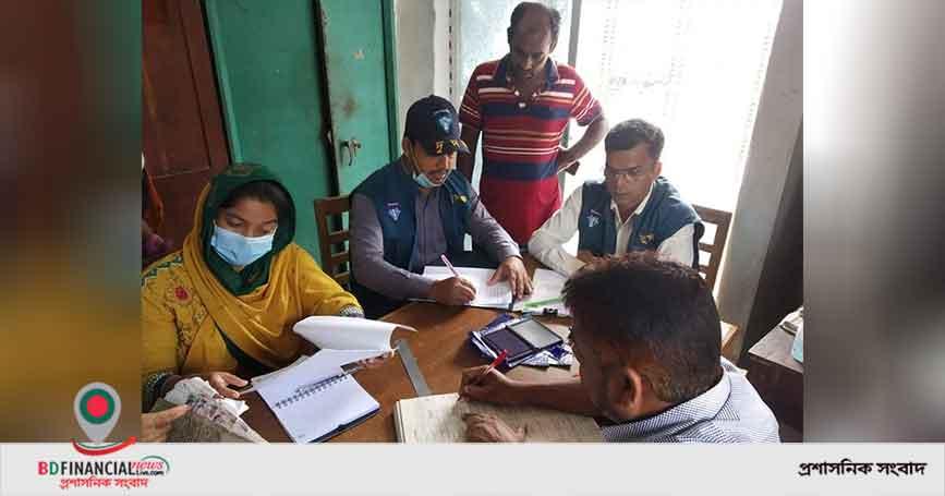
<path fill-rule="evenodd" d="M 246 170 L 247 167 L 252 169 Z M 266 264 L 257 261 L 261 265 L 268 265 L 268 280 L 264 279 L 266 274 L 263 274 L 259 281 L 262 283 L 242 295 L 228 289 L 217 275 L 219 269 L 211 269 L 217 261 L 207 263 L 208 256 L 217 256 L 211 253 L 211 247 L 208 250 L 206 246 L 209 240 L 206 235 L 207 228 L 213 228 L 207 226 L 207 222 L 213 222 L 213 216 L 207 214 L 215 214 L 219 203 L 225 201 L 233 189 L 270 174 L 262 166 L 238 165 L 220 176 L 222 178 L 215 178 L 201 193 L 194 211 L 194 228 L 183 245 L 184 268 L 194 285 L 194 291 L 206 306 L 209 318 L 201 326 L 192 346 L 203 348 L 187 353 L 182 368 L 204 368 L 208 364 L 199 362 L 214 362 L 216 355 L 227 353 L 226 349 L 220 349 L 225 343 L 221 343 L 220 339 L 214 339 L 216 336 L 213 334 L 217 332 L 217 329 L 208 327 L 213 325 L 251 358 L 278 368 L 299 355 L 301 341 L 291 330 L 295 322 L 315 314 L 336 315 L 346 306 L 359 306 L 358 301 L 325 275 L 307 252 L 290 242 L 294 234 L 294 218 L 279 219 L 277 231 L 290 231 L 287 244 L 279 250 L 279 244 L 282 243 L 277 239 L 271 258 L 267 259 Z M 291 202 L 288 191 L 286 193 Z M 208 197 L 214 198 L 209 205 Z M 294 210 L 291 215 L 294 216 Z M 283 227 L 288 228 L 290 225 L 292 229 L 283 230 Z M 254 268 L 257 262 L 243 270 Z M 204 339 L 201 335 L 204 335 Z"/>

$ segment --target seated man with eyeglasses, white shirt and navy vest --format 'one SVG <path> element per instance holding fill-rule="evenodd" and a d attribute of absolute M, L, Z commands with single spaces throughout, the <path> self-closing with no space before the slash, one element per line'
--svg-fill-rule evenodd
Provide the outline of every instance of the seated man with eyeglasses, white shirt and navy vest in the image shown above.
<path fill-rule="evenodd" d="M 615 125 L 604 138 L 604 181 L 589 181 L 571 193 L 532 235 L 529 253 L 566 276 L 605 255 L 634 251 L 698 268 L 704 227 L 659 176 L 663 143 L 663 131 L 642 119 Z M 578 256 L 564 247 L 576 231 Z"/>

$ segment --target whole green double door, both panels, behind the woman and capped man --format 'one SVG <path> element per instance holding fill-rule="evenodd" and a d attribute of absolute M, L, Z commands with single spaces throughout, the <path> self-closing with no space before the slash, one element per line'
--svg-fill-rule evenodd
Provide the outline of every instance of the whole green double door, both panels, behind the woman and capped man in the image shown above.
<path fill-rule="evenodd" d="M 230 155 L 282 178 L 295 242 L 319 259 L 313 202 L 350 193 L 399 147 L 391 0 L 204 5 Z"/>

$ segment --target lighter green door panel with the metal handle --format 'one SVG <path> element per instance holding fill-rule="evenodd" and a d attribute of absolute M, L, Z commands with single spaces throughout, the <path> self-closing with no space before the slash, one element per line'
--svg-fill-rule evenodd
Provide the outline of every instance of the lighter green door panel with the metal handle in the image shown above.
<path fill-rule="evenodd" d="M 319 0 L 338 193 L 399 156 L 391 0 Z"/>

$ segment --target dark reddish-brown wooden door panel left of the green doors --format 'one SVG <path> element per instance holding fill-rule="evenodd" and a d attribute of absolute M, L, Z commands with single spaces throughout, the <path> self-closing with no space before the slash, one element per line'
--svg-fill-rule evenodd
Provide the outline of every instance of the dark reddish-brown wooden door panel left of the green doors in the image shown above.
<path fill-rule="evenodd" d="M 165 204 L 158 229 L 180 247 L 207 181 L 229 162 L 197 0 L 142 3 L 142 147 Z"/>

